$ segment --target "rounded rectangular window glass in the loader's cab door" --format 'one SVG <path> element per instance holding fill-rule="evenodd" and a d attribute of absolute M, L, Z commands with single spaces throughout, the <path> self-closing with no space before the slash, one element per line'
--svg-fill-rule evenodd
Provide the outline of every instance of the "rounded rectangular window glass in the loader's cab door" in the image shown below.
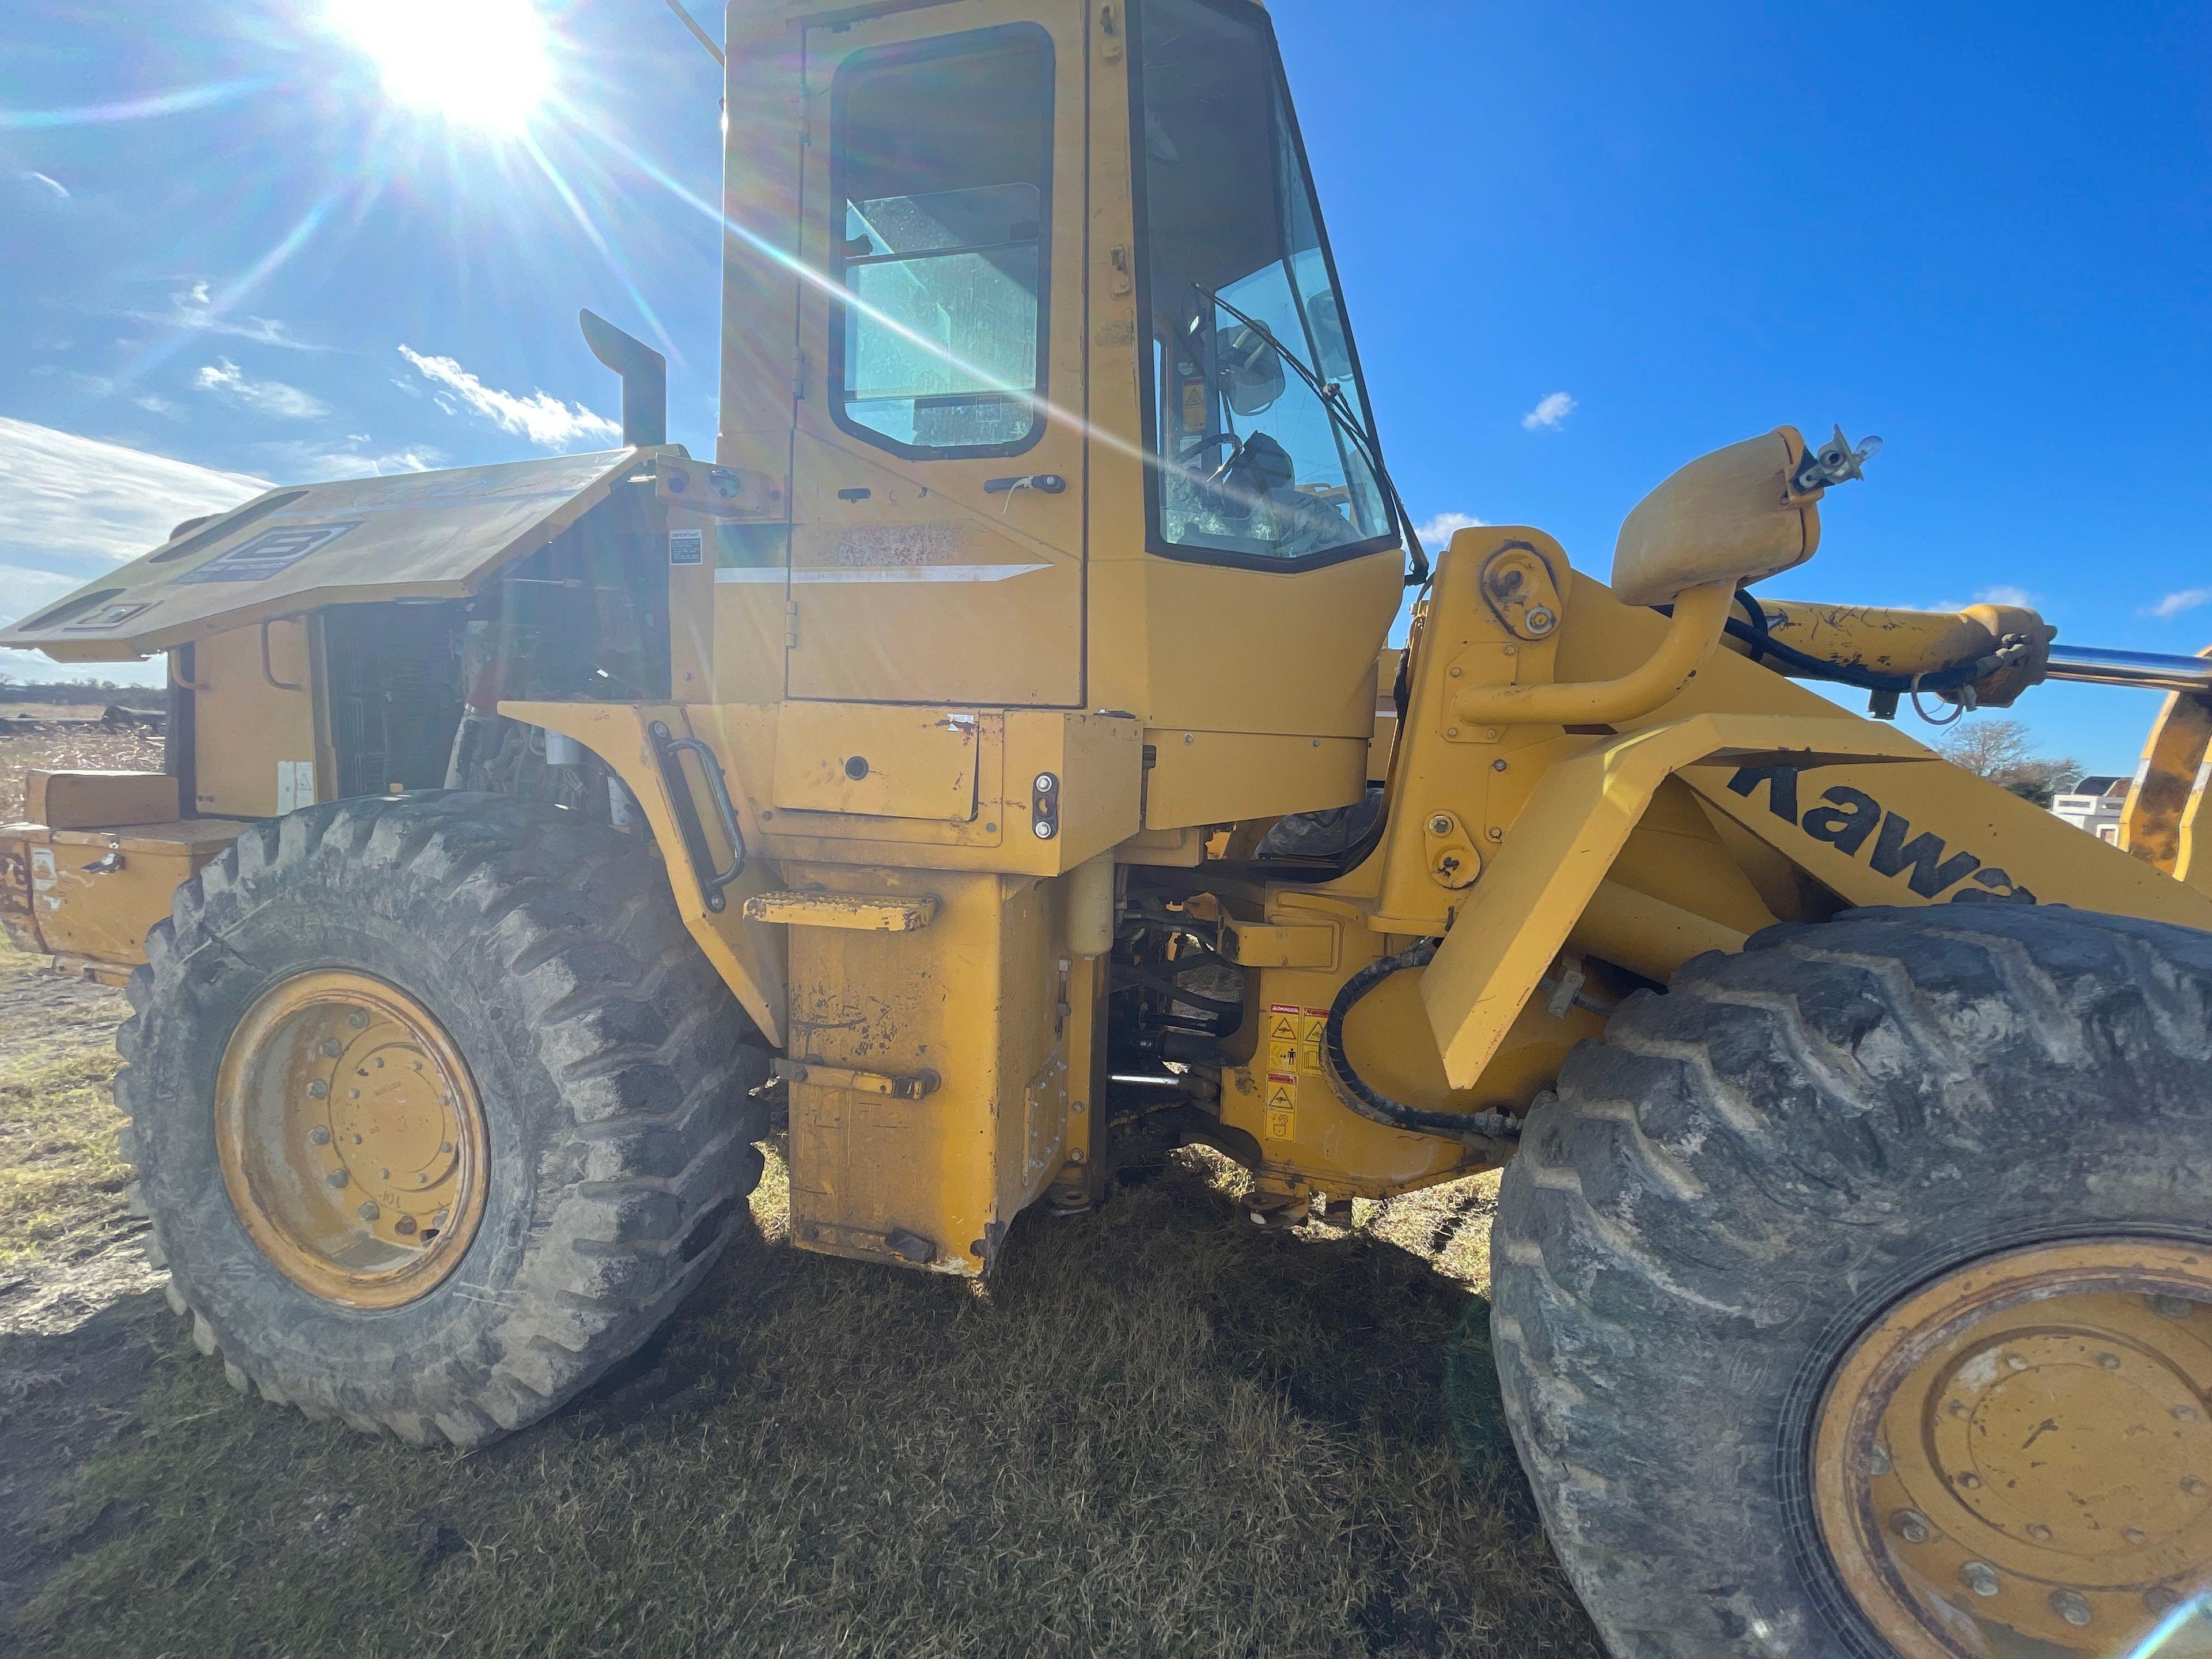
<path fill-rule="evenodd" d="M 856 53 L 832 86 L 836 422 L 900 456 L 1044 431 L 1053 44 L 1035 24 Z"/>

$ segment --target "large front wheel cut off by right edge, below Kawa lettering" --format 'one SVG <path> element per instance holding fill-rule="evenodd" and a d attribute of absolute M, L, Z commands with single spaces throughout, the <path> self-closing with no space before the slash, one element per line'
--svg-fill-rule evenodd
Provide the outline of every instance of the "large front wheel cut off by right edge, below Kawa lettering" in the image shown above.
<path fill-rule="evenodd" d="M 2108 1655 L 2212 1577 L 2212 933 L 1851 911 L 1579 1046 L 1493 1345 L 1613 1652 Z"/>

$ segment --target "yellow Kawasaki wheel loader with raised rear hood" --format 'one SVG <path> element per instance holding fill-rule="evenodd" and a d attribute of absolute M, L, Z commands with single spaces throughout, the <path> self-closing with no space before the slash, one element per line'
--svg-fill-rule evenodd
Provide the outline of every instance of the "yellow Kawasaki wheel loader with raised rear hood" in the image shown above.
<path fill-rule="evenodd" d="M 622 449 L 274 489 L 0 639 L 168 661 L 166 772 L 33 779 L 0 894 L 128 980 L 230 1380 L 520 1429 L 772 1115 L 801 1250 L 956 1276 L 1161 1146 L 1276 1223 L 1504 1166 L 1504 1398 L 1615 1652 L 2185 1619 L 2212 664 L 1759 597 L 1840 431 L 1692 460 L 1610 584 L 1431 564 L 1250 0 L 734 0 L 726 93 L 712 460 L 586 314 Z M 2172 692 L 2119 845 L 1889 719 L 2046 677 Z"/>

